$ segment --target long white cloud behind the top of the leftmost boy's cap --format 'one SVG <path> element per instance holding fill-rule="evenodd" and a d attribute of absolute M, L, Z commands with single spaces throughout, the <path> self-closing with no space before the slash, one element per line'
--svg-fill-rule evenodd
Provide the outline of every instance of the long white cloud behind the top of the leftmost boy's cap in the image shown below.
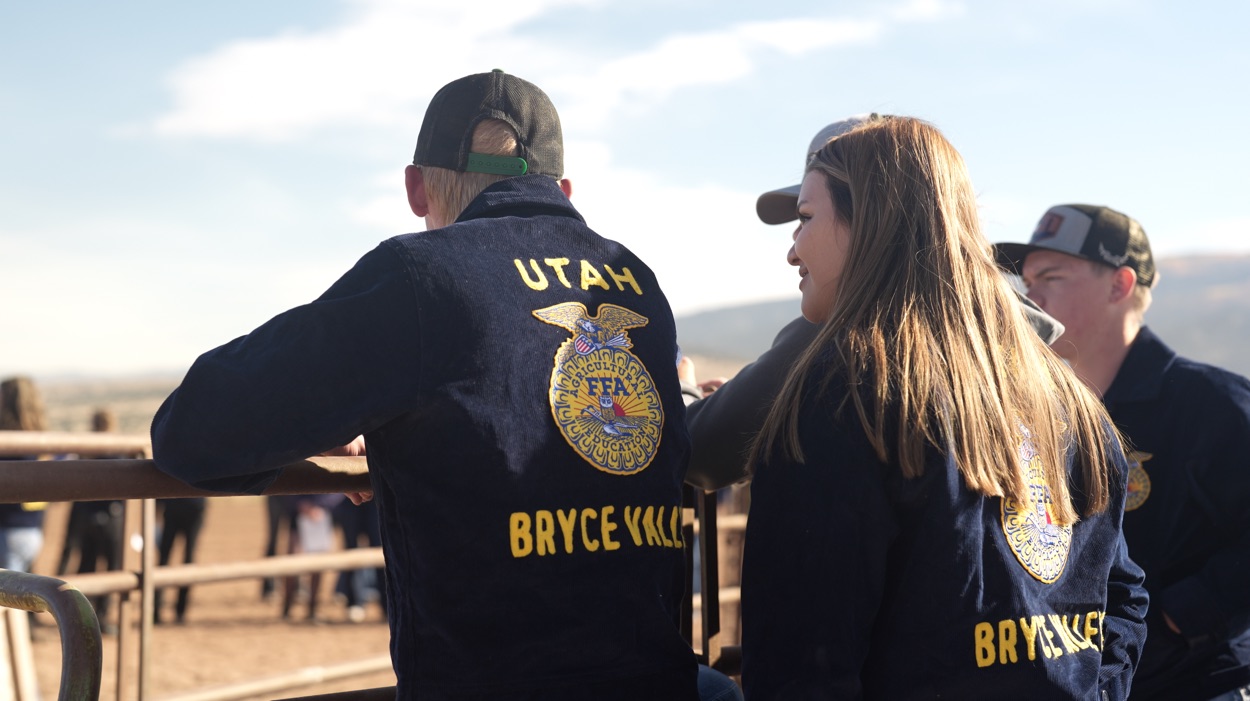
<path fill-rule="evenodd" d="M 329 126 L 411 124 L 448 75 L 482 70 L 480 56 L 509 56 L 542 85 L 566 124 L 594 129 L 624 105 L 652 109 L 674 91 L 724 85 L 762 56 L 796 56 L 878 41 L 878 20 L 791 19 L 679 34 L 620 57 L 570 55 L 511 30 L 578 0 L 485 6 L 359 2 L 342 25 L 288 31 L 225 46 L 168 77 L 174 105 L 154 120 L 164 136 L 288 141 Z M 430 65 L 438 70 L 429 70 Z M 524 69 L 524 70 L 522 70 Z M 128 130 L 118 130 L 128 132 Z"/>

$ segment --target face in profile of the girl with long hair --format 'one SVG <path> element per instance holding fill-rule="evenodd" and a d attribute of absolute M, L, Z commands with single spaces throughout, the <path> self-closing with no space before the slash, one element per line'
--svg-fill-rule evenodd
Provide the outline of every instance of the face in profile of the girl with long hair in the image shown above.
<path fill-rule="evenodd" d="M 809 172 L 799 190 L 799 227 L 786 260 L 799 267 L 802 316 L 812 324 L 832 314 L 850 239 L 850 226 L 834 211 L 825 176 Z"/>

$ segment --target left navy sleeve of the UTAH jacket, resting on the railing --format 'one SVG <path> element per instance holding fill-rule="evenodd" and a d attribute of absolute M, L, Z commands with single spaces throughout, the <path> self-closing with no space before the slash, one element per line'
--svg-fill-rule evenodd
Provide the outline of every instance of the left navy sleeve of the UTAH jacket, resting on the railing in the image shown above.
<path fill-rule="evenodd" d="M 289 462 L 344 445 L 416 394 L 411 282 L 386 244 L 315 301 L 201 355 L 152 420 L 156 467 L 260 494 Z"/>

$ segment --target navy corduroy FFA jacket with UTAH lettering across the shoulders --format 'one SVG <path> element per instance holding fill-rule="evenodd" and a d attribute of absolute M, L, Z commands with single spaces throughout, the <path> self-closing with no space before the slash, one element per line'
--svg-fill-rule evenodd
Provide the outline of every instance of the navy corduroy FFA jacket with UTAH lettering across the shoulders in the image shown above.
<path fill-rule="evenodd" d="M 651 271 L 542 176 L 202 355 L 158 466 L 259 492 L 364 434 L 400 699 L 681 699 L 689 436 Z"/>

